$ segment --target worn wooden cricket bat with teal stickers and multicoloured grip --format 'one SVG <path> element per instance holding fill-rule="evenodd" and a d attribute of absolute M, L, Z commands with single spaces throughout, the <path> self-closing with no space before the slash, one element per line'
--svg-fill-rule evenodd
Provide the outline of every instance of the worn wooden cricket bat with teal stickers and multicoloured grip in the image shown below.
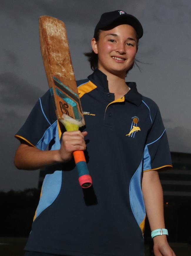
<path fill-rule="evenodd" d="M 77 131 L 85 125 L 77 84 L 71 62 L 65 24 L 50 16 L 39 17 L 41 54 L 56 117 L 66 131 Z M 92 185 L 83 151 L 73 152 L 79 183 Z"/>

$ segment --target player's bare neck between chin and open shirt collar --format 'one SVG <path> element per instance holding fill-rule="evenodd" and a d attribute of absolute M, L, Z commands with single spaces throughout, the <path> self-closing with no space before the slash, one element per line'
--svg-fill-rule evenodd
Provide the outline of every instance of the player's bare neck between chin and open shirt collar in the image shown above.
<path fill-rule="evenodd" d="M 102 70 L 100 69 L 100 71 Z M 110 72 L 106 72 L 105 70 L 102 72 L 107 76 L 108 89 L 109 92 L 115 94 L 115 100 L 123 97 L 129 91 L 129 87 L 125 83 L 125 74 L 120 76 L 111 74 Z"/>

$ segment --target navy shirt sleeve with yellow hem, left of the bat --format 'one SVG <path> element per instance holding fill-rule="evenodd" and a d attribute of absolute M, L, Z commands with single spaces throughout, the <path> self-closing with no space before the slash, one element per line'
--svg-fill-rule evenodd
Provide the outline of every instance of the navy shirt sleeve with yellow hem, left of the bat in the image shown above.
<path fill-rule="evenodd" d="M 40 145 L 39 142 L 42 138 L 45 138 L 47 132 L 51 136 L 50 130 L 51 127 L 55 126 L 53 125 L 55 122 L 56 114 L 51 94 L 48 90 L 43 97 L 39 98 L 36 102 L 36 105 L 33 107 L 24 125 L 16 133 L 15 137 L 20 141 L 26 141 L 31 146 L 36 147 L 38 144 Z M 49 138 L 49 140 L 51 140 L 51 138 Z"/>

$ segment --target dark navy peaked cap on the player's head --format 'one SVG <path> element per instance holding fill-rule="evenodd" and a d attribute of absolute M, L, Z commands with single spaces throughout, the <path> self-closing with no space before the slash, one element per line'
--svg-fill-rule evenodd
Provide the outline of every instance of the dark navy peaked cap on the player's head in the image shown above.
<path fill-rule="evenodd" d="M 128 24 L 132 26 L 137 32 L 139 39 L 143 36 L 143 27 L 138 19 L 124 11 L 117 10 L 113 12 L 105 12 L 101 15 L 101 18 L 94 30 L 94 37 L 98 30 L 110 30 L 113 27 L 122 24 Z"/>

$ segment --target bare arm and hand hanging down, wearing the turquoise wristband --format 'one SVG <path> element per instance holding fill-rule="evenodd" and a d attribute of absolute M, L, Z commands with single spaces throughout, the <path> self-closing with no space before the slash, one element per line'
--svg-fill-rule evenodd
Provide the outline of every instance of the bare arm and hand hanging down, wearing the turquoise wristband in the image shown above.
<path fill-rule="evenodd" d="M 143 198 L 151 231 L 165 228 L 163 192 L 157 171 L 143 173 Z M 176 256 L 170 248 L 166 235 L 153 238 L 155 256 Z"/>

